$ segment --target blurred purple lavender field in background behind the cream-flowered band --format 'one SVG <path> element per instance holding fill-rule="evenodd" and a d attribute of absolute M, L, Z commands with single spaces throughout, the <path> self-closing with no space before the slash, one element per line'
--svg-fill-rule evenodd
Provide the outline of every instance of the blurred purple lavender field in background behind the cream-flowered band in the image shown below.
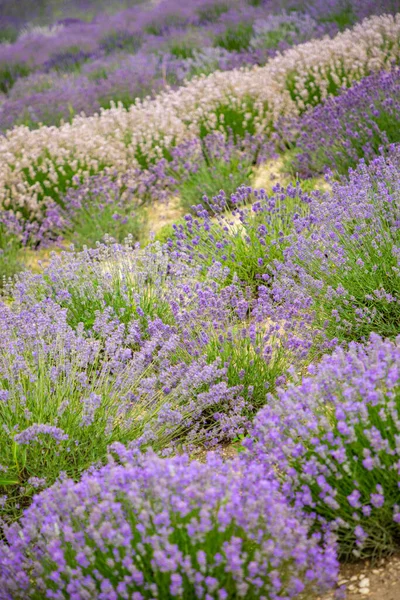
<path fill-rule="evenodd" d="M 396 2 L 175 0 L 140 4 L 91 22 L 61 19 L 0 45 L 0 128 L 58 125 L 110 102 L 132 104 L 216 69 L 265 64 L 278 51 L 334 35 Z"/>

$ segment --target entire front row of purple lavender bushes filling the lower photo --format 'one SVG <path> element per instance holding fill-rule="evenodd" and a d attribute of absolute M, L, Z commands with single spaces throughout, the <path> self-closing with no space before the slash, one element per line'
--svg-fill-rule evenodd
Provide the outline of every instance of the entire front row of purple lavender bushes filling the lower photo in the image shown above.
<path fill-rule="evenodd" d="M 1 306 L 0 597 L 311 597 L 337 557 L 398 549 L 399 201 L 392 146 L 332 192 L 241 187 L 164 246 L 25 274 Z M 226 463 L 143 452 L 246 432 Z"/>

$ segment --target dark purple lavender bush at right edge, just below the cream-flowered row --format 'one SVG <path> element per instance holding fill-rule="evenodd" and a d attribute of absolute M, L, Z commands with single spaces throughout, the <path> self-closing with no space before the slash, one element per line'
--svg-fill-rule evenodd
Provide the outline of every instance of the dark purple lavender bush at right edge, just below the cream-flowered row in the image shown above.
<path fill-rule="evenodd" d="M 399 142 L 399 97 L 396 68 L 362 79 L 290 124 L 289 138 L 296 147 L 293 172 L 305 177 L 327 170 L 346 175 L 361 158 L 370 161 L 382 146 Z M 287 135 L 281 131 L 279 137 Z"/>

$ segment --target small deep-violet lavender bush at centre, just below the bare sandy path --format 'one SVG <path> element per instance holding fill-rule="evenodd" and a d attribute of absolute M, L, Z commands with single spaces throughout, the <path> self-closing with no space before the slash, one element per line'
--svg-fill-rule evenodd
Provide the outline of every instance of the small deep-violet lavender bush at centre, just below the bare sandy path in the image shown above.
<path fill-rule="evenodd" d="M 300 186 L 276 185 L 273 192 L 268 196 L 263 189 L 241 186 L 230 198 L 223 191 L 204 198 L 208 210 L 197 205 L 196 218 L 186 215 L 184 223 L 173 226 L 167 242 L 171 256 L 196 265 L 199 275 L 219 285 L 234 282 L 255 294 L 270 281 L 268 265 L 283 259 L 291 234 L 308 225 L 311 197 Z"/>

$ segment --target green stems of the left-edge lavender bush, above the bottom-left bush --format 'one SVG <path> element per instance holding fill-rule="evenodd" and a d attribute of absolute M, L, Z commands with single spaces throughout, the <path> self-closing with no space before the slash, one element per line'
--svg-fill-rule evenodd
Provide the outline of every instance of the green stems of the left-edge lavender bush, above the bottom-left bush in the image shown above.
<path fill-rule="evenodd" d="M 15 397 L 14 412 L 9 410 L 8 404 L 0 404 L 0 418 L 4 425 L 0 431 L 2 465 L 8 468 L 7 480 L 0 479 L 0 493 L 7 494 L 3 507 L 3 517 L 7 521 L 19 517 L 37 492 L 29 484 L 31 477 L 44 479 L 46 486 L 51 485 L 60 472 L 77 480 L 87 468 L 98 465 L 106 457 L 110 443 L 134 440 L 147 421 L 145 400 L 132 403 L 129 415 L 119 416 L 121 395 L 134 393 L 140 385 L 140 378 L 129 385 L 126 381 L 125 386 L 113 385 L 112 378 L 101 373 L 102 351 L 93 357 L 92 365 L 85 370 L 70 357 L 70 373 L 58 377 L 51 374 L 56 367 L 54 361 L 39 348 L 36 352 L 25 352 L 24 358 L 29 367 L 35 363 L 35 378 L 29 378 L 26 371 L 18 370 L 18 383 L 26 402 L 22 403 Z M 81 385 L 83 380 L 88 382 L 87 386 Z M 2 388 L 6 386 L 7 389 L 7 382 L 0 382 Z M 91 394 L 100 397 L 100 407 L 93 423 L 82 426 L 85 404 L 82 399 L 89 398 Z M 157 411 L 157 400 L 160 408 L 160 399 L 155 398 L 154 412 Z M 147 414 L 150 417 L 151 411 Z M 5 431 L 6 427 L 12 431 L 16 426 L 23 430 L 32 423 L 57 423 L 69 439 L 58 443 L 50 436 L 41 436 L 40 443 L 22 446 L 13 442 Z"/>

